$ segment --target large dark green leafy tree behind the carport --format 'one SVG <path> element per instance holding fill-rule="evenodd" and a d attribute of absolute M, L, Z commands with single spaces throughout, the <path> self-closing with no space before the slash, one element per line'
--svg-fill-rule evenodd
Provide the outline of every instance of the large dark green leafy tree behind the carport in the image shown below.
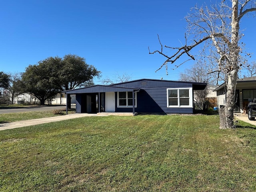
<path fill-rule="evenodd" d="M 22 89 L 36 96 L 41 104 L 64 90 L 93 84 L 93 78 L 100 76 L 100 71 L 88 65 L 84 58 L 67 54 L 63 58 L 49 57 L 30 65 L 22 75 Z M 70 108 L 71 99 L 67 98 Z"/>

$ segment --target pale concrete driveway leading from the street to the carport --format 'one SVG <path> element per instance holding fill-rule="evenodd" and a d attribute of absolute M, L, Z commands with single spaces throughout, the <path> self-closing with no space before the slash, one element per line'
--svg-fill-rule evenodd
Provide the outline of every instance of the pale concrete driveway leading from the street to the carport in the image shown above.
<path fill-rule="evenodd" d="M 56 122 L 56 121 L 62 121 L 62 120 L 74 119 L 74 118 L 86 117 L 86 116 L 103 116 L 103 115 L 88 114 L 88 113 L 74 113 L 74 114 L 68 114 L 68 115 L 62 115 L 62 116 L 56 116 L 56 117 L 47 117 L 47 118 L 32 119 L 32 120 L 26 120 L 26 121 L 1 123 L 0 130 L 14 129 L 14 128 L 19 128 L 19 127 L 38 125 L 38 124 L 43 124 L 43 123 Z M 104 115 L 104 116 L 106 116 L 106 115 Z"/>

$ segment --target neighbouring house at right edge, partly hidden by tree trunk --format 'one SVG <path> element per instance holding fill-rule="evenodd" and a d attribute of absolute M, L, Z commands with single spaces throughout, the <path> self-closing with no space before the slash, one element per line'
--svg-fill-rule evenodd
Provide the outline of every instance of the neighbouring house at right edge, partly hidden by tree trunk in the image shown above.
<path fill-rule="evenodd" d="M 217 92 L 218 108 L 226 103 L 226 83 L 223 83 L 214 91 Z M 241 78 L 236 80 L 236 92 L 235 92 L 235 110 L 238 112 L 246 112 L 248 100 L 250 98 L 256 98 L 256 76 Z"/>

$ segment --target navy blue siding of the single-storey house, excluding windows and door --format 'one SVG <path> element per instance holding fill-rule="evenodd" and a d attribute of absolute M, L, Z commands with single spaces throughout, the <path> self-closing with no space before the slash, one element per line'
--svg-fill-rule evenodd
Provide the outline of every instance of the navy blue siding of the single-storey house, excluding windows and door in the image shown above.
<path fill-rule="evenodd" d="M 193 113 L 193 108 L 167 108 L 167 88 L 193 88 L 193 90 L 201 90 L 205 88 L 205 83 L 178 82 L 167 80 L 134 80 L 110 86 L 90 86 L 76 90 L 66 91 L 68 94 L 76 94 L 76 112 L 86 112 L 86 93 L 98 92 L 115 92 L 116 112 L 132 112 L 131 108 L 117 107 L 117 92 L 138 91 L 137 107 L 135 112 L 138 113 Z"/>

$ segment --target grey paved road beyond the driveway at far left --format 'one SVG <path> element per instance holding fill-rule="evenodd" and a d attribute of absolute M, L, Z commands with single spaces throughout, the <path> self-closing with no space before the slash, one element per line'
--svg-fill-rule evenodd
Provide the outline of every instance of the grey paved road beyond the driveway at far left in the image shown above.
<path fill-rule="evenodd" d="M 76 108 L 76 106 L 71 106 Z M 0 114 L 31 112 L 31 111 L 49 111 L 54 109 L 66 109 L 66 105 L 46 105 L 46 106 L 25 106 L 25 107 L 0 107 Z"/>

